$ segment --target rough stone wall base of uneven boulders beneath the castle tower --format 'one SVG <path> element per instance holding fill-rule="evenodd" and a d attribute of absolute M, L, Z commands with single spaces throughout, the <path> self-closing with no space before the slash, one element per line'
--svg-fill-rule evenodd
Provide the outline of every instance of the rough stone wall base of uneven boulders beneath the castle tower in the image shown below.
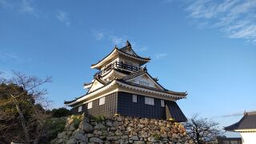
<path fill-rule="evenodd" d="M 74 117 L 51 143 L 192 143 L 182 124 L 149 118 L 117 116 L 102 121 L 83 117 L 78 129 Z"/>

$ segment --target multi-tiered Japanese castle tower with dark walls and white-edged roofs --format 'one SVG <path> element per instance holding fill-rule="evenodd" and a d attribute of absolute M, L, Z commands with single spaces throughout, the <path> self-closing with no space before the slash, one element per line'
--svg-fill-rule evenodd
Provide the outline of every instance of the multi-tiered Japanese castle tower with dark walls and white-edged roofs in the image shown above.
<path fill-rule="evenodd" d="M 84 84 L 85 95 L 64 102 L 73 114 L 131 116 L 185 122 L 186 117 L 176 101 L 186 98 L 186 92 L 166 90 L 153 78 L 145 65 L 150 58 L 138 56 L 130 42 L 117 46 L 105 58 L 90 68 L 97 69 L 94 79 Z"/>

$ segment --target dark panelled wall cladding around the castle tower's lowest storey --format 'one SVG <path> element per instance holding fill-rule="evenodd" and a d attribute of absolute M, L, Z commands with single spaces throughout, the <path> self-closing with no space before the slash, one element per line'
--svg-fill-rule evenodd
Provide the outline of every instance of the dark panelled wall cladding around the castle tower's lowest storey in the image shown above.
<path fill-rule="evenodd" d="M 166 107 L 161 106 L 161 99 L 154 98 L 154 106 L 145 104 L 145 96 L 137 95 L 137 102 L 133 102 L 133 94 L 117 92 L 105 96 L 105 104 L 99 106 L 99 99 L 93 101 L 93 107 L 86 110 L 87 104 L 82 105 L 82 112 L 78 113 L 78 107 L 71 110 L 72 114 L 102 115 L 113 117 L 114 114 L 138 118 L 166 119 Z M 165 105 L 170 110 L 171 118 L 176 122 L 185 122 L 186 117 L 176 102 L 166 101 Z"/>

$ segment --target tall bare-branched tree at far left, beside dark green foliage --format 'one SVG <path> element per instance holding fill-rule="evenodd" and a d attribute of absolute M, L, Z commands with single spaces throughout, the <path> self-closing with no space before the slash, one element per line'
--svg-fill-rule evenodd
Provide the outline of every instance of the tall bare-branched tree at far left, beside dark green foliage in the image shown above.
<path fill-rule="evenodd" d="M 24 141 L 26 143 L 34 142 L 36 144 L 44 134 L 43 122 L 48 117 L 40 106 L 46 107 L 49 105 L 49 101 L 43 97 L 46 94 L 46 90 L 40 87 L 47 82 L 51 82 L 51 79 L 49 77 L 41 79 L 15 71 L 13 71 L 13 74 L 14 77 L 10 79 L 0 77 L 0 83 L 3 86 L 9 86 L 7 89 L 1 91 L 1 96 L 5 95 L 6 98 L 2 100 L 3 102 L 0 102 L 0 106 L 3 107 L 0 109 L 2 114 L 0 120 L 8 121 L 8 118 L 9 120 L 14 119 L 15 112 L 17 112 L 25 136 Z M 26 103 L 25 107 L 22 105 L 23 103 Z M 39 104 L 36 105 L 35 103 Z M 11 107 L 11 104 L 15 106 L 16 111 Z M 4 109 L 6 106 L 7 109 Z M 24 111 L 26 111 L 27 106 L 31 110 L 29 116 L 25 118 Z M 8 109 L 13 109 L 13 114 Z M 2 128 L 2 130 L 8 129 L 11 128 Z"/>

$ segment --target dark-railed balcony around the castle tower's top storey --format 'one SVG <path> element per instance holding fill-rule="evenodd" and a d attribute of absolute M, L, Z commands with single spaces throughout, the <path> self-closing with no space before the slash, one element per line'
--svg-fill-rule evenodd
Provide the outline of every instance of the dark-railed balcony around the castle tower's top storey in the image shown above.
<path fill-rule="evenodd" d="M 118 69 L 128 70 L 128 71 L 137 71 L 137 70 L 141 69 L 138 66 L 129 65 L 124 62 L 113 62 L 109 66 L 107 66 L 105 69 L 98 71 L 98 73 L 96 73 L 96 74 L 100 74 L 100 75 L 105 74 L 106 72 L 108 72 L 109 70 L 111 70 L 113 68 L 118 68 Z"/>

